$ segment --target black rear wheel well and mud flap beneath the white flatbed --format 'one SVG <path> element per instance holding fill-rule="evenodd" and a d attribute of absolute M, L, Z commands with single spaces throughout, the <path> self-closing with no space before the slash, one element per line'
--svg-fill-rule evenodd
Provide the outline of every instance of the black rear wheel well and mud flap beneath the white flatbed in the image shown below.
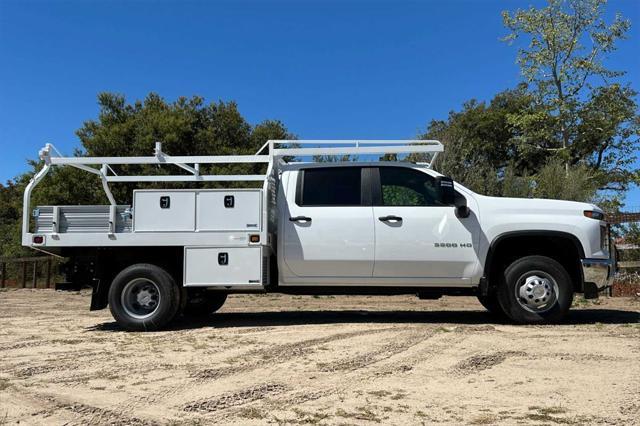
<path fill-rule="evenodd" d="M 92 286 L 91 310 L 98 310 L 107 307 L 107 294 L 116 275 L 137 263 L 159 266 L 181 284 L 183 250 L 183 247 L 74 248 L 63 255 L 69 258 L 67 271 L 83 271 L 67 272 L 67 280 L 76 287 Z"/>

